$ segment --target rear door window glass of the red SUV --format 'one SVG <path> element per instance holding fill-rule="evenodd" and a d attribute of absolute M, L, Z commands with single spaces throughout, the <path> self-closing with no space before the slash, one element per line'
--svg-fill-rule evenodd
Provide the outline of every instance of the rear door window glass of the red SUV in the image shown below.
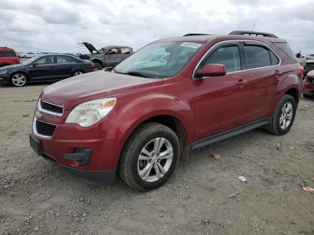
<path fill-rule="evenodd" d="M 248 63 L 247 69 L 271 66 L 268 48 L 260 46 L 244 46 L 244 51 Z"/>

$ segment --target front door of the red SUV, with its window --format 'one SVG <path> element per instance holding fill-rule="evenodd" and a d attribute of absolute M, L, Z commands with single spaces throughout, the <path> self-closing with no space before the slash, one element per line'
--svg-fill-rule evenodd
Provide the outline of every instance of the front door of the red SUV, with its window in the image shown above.
<path fill-rule="evenodd" d="M 247 116 L 249 89 L 242 49 L 238 42 L 214 47 L 197 69 L 206 64 L 223 64 L 227 74 L 193 79 L 194 141 L 242 127 Z"/>

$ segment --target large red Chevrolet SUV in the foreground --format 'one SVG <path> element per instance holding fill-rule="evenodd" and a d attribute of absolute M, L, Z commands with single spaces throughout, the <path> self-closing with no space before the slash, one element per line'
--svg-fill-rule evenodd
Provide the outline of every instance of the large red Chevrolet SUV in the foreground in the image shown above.
<path fill-rule="evenodd" d="M 153 55 L 166 61 L 147 63 Z M 30 144 L 87 182 L 113 184 L 118 171 L 132 188 L 150 190 L 189 149 L 260 126 L 286 134 L 302 74 L 287 42 L 272 34 L 162 39 L 108 71 L 45 88 Z"/>

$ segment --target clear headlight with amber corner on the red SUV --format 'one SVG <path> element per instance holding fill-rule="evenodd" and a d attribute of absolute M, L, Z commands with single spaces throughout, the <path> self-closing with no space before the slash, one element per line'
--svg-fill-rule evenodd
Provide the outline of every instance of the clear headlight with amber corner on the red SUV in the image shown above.
<path fill-rule="evenodd" d="M 81 103 L 70 112 L 65 122 L 89 127 L 105 118 L 114 108 L 116 102 L 117 98 L 104 98 Z"/>

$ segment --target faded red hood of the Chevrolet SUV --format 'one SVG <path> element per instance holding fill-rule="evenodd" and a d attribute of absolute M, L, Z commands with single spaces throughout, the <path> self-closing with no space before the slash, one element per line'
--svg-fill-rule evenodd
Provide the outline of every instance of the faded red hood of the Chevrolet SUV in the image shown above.
<path fill-rule="evenodd" d="M 44 101 L 72 109 L 79 103 L 125 94 L 163 84 L 161 78 L 144 78 L 106 71 L 95 71 L 71 77 L 46 87 Z"/>

